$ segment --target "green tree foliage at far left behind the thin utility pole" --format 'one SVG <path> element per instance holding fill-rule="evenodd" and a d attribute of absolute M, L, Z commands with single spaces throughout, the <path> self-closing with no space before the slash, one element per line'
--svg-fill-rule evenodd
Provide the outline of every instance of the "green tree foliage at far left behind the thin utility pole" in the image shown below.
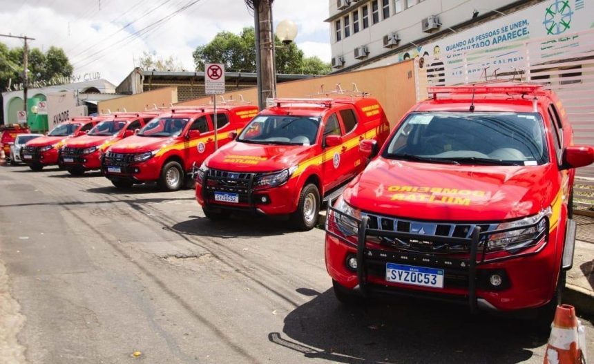
<path fill-rule="evenodd" d="M 23 82 L 23 47 L 8 48 L 0 43 L 0 88 Z M 50 82 L 56 77 L 70 77 L 73 66 L 64 50 L 50 47 L 47 52 L 30 48 L 28 54 L 28 77 L 30 86 L 37 82 Z"/>

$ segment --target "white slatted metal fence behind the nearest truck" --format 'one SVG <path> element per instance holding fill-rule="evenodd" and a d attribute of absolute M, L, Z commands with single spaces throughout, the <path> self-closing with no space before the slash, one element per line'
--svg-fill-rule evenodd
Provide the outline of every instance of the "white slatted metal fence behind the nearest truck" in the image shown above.
<path fill-rule="evenodd" d="M 415 59 L 416 97 L 427 86 L 492 79 L 539 82 L 562 99 L 575 144 L 594 144 L 594 29 Z M 594 166 L 577 170 L 575 206 L 594 210 Z"/>

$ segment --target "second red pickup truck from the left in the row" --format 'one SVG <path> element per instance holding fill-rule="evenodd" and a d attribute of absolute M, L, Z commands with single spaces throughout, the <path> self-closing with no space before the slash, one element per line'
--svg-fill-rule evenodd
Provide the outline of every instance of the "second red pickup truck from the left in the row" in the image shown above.
<path fill-rule="evenodd" d="M 105 150 L 135 134 L 157 113 L 118 113 L 99 122 L 86 135 L 68 140 L 60 150 L 60 162 L 71 175 L 101 169 L 101 156 Z"/>

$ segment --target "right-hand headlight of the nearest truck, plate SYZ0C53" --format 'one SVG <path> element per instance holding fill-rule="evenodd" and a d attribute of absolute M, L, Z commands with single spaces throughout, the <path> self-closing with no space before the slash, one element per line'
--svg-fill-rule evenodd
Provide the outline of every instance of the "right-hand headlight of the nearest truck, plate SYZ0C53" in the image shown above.
<path fill-rule="evenodd" d="M 488 251 L 506 250 L 515 253 L 518 249 L 537 245 L 548 229 L 548 218 L 551 214 L 552 211 L 548 207 L 537 215 L 497 225 L 495 230 L 512 230 L 490 234 L 487 240 Z"/>

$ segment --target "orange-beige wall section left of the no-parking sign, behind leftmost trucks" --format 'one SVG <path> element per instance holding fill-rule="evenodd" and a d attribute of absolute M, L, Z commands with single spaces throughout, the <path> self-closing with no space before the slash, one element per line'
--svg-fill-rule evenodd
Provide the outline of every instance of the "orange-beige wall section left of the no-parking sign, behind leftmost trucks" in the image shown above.
<path fill-rule="evenodd" d="M 130 95 L 119 97 L 99 102 L 97 110 L 99 113 L 105 114 L 110 111 L 144 111 L 147 108 L 169 107 L 171 104 L 178 102 L 178 88 L 166 87 L 158 90 L 148 91 L 146 93 L 139 93 L 137 95 Z"/>

